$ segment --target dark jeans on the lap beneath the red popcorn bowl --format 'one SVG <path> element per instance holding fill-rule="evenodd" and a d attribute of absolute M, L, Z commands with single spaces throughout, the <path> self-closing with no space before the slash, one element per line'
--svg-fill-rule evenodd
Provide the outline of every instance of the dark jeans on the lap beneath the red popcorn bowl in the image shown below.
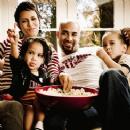
<path fill-rule="evenodd" d="M 45 130 L 91 130 L 99 128 L 98 113 L 93 107 L 80 111 L 58 111 L 52 109 L 46 113 Z"/>

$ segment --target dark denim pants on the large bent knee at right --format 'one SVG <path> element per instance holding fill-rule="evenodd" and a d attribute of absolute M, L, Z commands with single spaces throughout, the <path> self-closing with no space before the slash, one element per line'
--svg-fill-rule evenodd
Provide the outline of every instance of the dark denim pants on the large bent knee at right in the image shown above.
<path fill-rule="evenodd" d="M 102 73 L 95 101 L 102 130 L 130 130 L 130 88 L 127 78 L 116 70 Z"/>

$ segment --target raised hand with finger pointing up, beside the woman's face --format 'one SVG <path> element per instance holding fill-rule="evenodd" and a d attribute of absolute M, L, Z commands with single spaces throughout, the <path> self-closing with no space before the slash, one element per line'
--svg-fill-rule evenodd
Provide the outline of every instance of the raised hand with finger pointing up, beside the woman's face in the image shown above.
<path fill-rule="evenodd" d="M 8 35 L 8 42 L 11 44 L 17 44 L 18 43 L 18 33 L 16 32 L 16 24 L 14 24 L 14 29 L 8 29 L 7 30 Z"/>

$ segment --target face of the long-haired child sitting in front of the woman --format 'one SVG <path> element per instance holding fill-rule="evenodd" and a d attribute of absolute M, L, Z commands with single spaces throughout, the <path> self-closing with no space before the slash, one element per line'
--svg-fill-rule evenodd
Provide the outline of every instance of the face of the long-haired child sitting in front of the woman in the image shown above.
<path fill-rule="evenodd" d="M 43 64 L 43 53 L 43 46 L 40 43 L 34 42 L 29 45 L 25 54 L 25 61 L 32 73 L 38 71 L 40 65 Z"/>

